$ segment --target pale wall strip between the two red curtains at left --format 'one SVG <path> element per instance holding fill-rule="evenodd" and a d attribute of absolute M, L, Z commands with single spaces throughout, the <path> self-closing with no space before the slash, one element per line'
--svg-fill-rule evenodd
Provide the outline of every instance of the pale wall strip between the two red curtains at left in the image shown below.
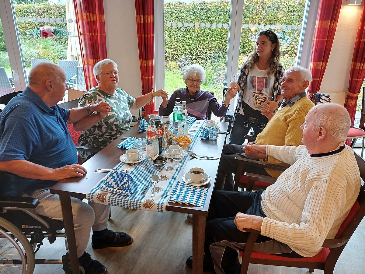
<path fill-rule="evenodd" d="M 131 96 L 141 95 L 141 71 L 134 0 L 104 1 L 108 58 L 118 64 L 119 88 Z M 131 111 L 138 116 L 138 110 Z"/>

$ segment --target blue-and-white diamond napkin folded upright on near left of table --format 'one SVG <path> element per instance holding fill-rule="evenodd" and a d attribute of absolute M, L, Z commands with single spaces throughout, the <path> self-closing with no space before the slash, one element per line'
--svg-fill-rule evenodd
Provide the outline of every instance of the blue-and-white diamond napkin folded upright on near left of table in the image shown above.
<path fill-rule="evenodd" d="M 128 197 L 132 194 L 132 183 L 133 179 L 131 175 L 122 171 L 114 170 L 107 175 L 105 183 L 100 187 L 100 189 Z"/>

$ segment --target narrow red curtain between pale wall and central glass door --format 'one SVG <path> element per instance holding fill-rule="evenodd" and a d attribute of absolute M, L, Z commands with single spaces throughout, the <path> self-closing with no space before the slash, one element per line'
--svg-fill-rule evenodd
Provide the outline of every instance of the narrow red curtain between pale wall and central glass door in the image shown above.
<path fill-rule="evenodd" d="M 141 68 L 142 94 L 153 90 L 154 83 L 154 3 L 153 0 L 135 0 L 139 66 Z M 146 104 L 145 116 L 152 114 L 154 100 Z"/>

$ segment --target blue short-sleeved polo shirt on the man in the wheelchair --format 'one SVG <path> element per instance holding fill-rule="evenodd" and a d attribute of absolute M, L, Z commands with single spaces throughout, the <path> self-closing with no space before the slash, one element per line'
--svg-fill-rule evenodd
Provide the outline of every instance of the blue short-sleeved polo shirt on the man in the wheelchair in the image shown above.
<path fill-rule="evenodd" d="M 0 115 L 0 161 L 27 160 L 50 168 L 77 164 L 77 151 L 67 129 L 70 111 L 49 107 L 30 88 L 6 105 Z M 57 181 L 28 179 L 4 172 L 1 195 L 31 194 Z"/>

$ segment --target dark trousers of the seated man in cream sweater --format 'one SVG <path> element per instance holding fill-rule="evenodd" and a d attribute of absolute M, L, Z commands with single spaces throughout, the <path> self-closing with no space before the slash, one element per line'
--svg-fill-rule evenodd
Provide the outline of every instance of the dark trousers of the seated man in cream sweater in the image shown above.
<path fill-rule="evenodd" d="M 239 231 L 234 224 L 234 218 L 238 212 L 265 217 L 265 213 L 261 209 L 261 194 L 264 190 L 252 191 L 214 191 L 212 195 L 212 203 L 209 208 L 207 223 L 205 225 L 205 243 L 204 252 L 208 256 L 212 256 L 210 252 L 211 244 L 227 241 L 234 243 L 246 243 L 249 233 Z M 256 243 L 261 243 L 261 248 L 268 251 L 267 253 L 276 253 L 279 256 L 287 256 L 292 258 L 303 258 L 296 252 L 269 237 L 258 235 Z M 267 246 L 268 248 L 265 248 Z M 274 247 L 276 252 L 272 252 L 269 247 Z M 283 248 L 282 248 L 283 246 Z M 270 252 L 271 251 L 271 252 Z M 291 251 L 291 252 L 290 252 Z M 213 250 L 212 250 L 213 252 Z M 290 252 L 290 253 L 283 253 Z M 220 267 L 224 273 L 234 274 L 240 273 L 241 265 L 237 258 L 237 250 L 224 247 L 222 254 L 218 253 Z M 216 250 L 215 254 L 217 255 Z M 217 260 L 216 260 L 217 261 Z"/>

